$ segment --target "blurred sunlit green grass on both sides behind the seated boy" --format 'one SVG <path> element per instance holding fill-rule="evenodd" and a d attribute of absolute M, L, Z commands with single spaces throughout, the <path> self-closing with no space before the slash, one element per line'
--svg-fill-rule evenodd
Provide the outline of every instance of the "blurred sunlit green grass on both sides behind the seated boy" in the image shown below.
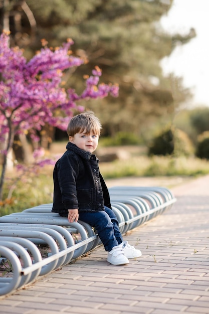
<path fill-rule="evenodd" d="M 165 156 L 135 155 L 128 160 L 117 160 L 112 163 L 101 163 L 100 171 L 105 179 L 123 177 L 161 177 L 181 176 L 196 177 L 209 173 L 209 162 L 197 158 L 171 158 Z M 14 185 L 12 197 L 8 193 L 15 177 L 14 172 L 7 174 L 4 186 L 4 199 L 0 202 L 1 216 L 40 204 L 53 202 L 53 167 L 40 169 L 39 174 L 28 174 Z"/>

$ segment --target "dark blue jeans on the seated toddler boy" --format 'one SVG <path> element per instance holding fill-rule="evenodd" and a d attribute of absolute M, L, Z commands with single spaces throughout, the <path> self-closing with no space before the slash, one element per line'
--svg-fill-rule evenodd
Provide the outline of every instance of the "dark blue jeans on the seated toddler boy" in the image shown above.
<path fill-rule="evenodd" d="M 80 212 L 79 219 L 97 230 L 106 251 L 123 242 L 114 212 L 105 206 L 105 211 Z"/>

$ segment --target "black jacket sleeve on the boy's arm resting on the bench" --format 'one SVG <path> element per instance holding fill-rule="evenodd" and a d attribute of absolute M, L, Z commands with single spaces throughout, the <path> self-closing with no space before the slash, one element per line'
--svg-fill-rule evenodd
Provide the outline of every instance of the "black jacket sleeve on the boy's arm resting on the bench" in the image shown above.
<path fill-rule="evenodd" d="M 73 155 L 63 155 L 57 165 L 58 181 L 65 209 L 78 208 L 76 180 L 79 163 Z"/>

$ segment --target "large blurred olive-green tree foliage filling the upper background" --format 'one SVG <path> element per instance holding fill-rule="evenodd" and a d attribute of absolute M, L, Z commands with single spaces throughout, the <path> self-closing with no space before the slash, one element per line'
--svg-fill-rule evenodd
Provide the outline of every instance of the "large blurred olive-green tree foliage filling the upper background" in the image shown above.
<path fill-rule="evenodd" d="M 195 36 L 193 31 L 171 36 L 161 29 L 160 18 L 171 8 L 171 0 L 10 0 L 9 3 L 12 43 L 25 48 L 28 58 L 42 38 L 49 45 L 59 46 L 70 36 L 75 41 L 73 52 L 88 63 L 76 70 L 74 80 L 67 82 L 69 86 L 82 90 L 80 78 L 90 74 L 95 65 L 102 69 L 105 82 L 119 84 L 117 99 L 107 97 L 88 103 L 101 118 L 104 135 L 114 135 L 117 131 L 140 134 L 156 118 L 170 118 L 189 96 L 182 81 L 173 76 L 163 77 L 160 67 L 160 60 L 170 55 L 177 44 Z M 19 24 L 16 15 L 21 16 Z"/>

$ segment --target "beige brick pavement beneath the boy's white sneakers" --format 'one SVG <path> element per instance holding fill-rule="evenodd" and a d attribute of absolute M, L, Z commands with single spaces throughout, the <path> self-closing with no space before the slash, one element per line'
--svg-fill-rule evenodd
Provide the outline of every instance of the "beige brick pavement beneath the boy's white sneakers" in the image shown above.
<path fill-rule="evenodd" d="M 142 250 L 129 265 L 102 246 L 0 299 L 1 313 L 209 313 L 209 176 L 172 188 L 170 210 L 124 236 Z"/>

